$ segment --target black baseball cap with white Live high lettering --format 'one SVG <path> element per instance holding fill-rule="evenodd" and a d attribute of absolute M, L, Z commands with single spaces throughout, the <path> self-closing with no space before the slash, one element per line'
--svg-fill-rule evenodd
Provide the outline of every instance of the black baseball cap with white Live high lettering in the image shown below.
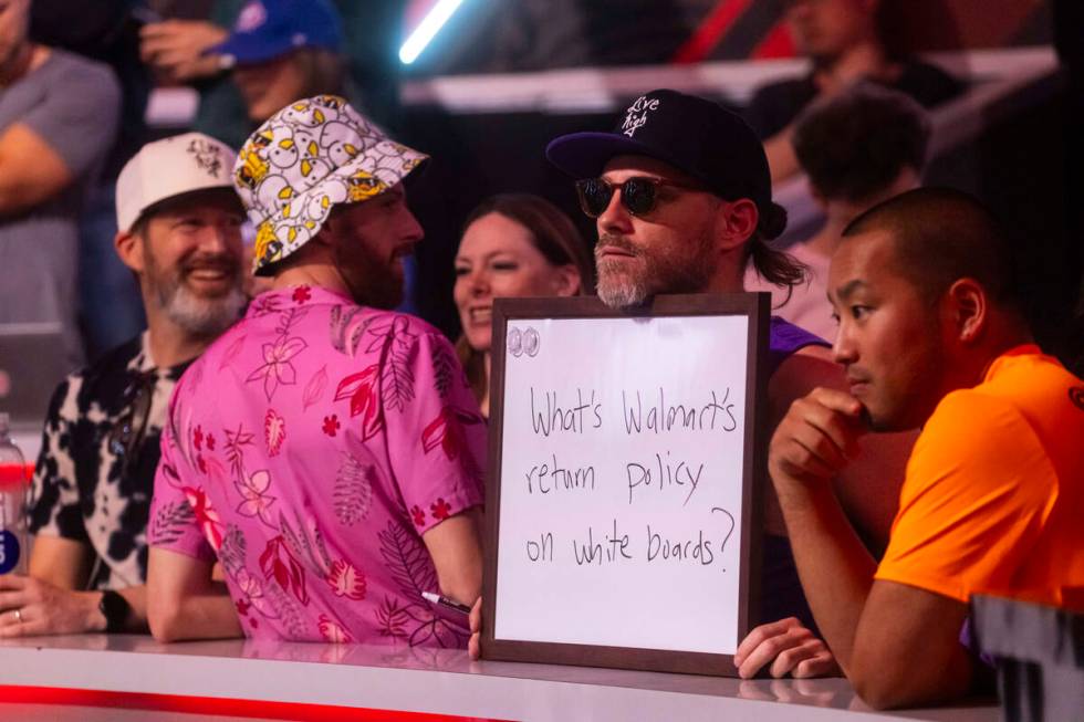
<path fill-rule="evenodd" d="M 652 91 L 636 98 L 609 133 L 572 133 L 545 148 L 550 163 L 577 179 L 598 176 L 621 155 L 668 163 L 720 198 L 749 198 L 762 214 L 772 207 L 760 138 L 737 114 L 702 97 Z"/>

